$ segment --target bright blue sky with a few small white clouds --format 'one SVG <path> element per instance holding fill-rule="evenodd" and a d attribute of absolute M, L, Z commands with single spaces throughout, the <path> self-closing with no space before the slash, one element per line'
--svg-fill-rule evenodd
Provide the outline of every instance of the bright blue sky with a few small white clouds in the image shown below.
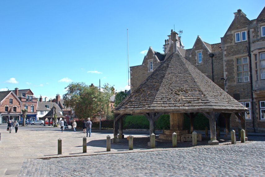
<path fill-rule="evenodd" d="M 30 88 L 55 98 L 71 82 L 109 83 L 128 90 L 129 65 L 149 46 L 163 53 L 170 30 L 183 30 L 185 49 L 197 35 L 219 43 L 241 9 L 256 19 L 264 0 L 245 1 L 0 1 L 0 91 Z"/>

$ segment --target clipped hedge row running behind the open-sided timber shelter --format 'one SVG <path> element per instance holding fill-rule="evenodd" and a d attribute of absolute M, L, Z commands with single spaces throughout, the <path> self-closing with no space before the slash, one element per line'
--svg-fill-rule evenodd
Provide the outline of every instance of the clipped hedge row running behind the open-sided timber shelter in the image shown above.
<path fill-rule="evenodd" d="M 77 123 L 77 127 L 82 127 Z M 202 114 L 198 114 L 193 120 L 193 128 L 195 130 L 204 130 L 205 127 L 210 128 L 209 120 Z M 99 128 L 99 122 L 93 122 L 93 128 Z M 101 128 L 113 129 L 113 120 L 102 120 Z M 145 116 L 125 116 L 123 120 L 123 129 L 149 129 L 149 121 Z M 160 116 L 155 122 L 155 129 L 170 129 L 170 118 L 169 115 Z M 184 130 L 190 129 L 190 118 L 184 115 Z"/>

